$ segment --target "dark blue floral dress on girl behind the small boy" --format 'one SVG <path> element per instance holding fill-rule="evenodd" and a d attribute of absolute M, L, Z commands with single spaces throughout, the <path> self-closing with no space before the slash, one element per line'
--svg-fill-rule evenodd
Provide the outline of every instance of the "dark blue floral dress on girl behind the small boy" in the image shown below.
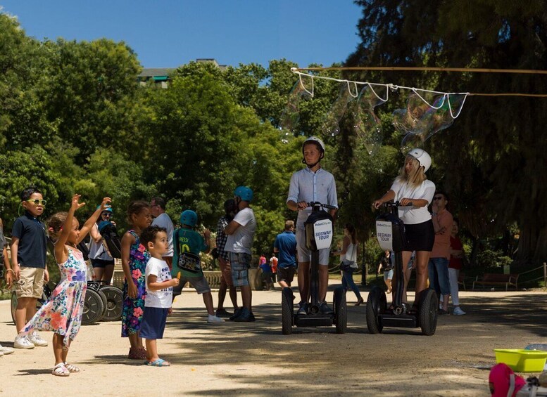
<path fill-rule="evenodd" d="M 128 337 L 130 334 L 139 332 L 142 323 L 142 313 L 144 313 L 144 299 L 146 298 L 146 263 L 150 259 L 150 254 L 141 244 L 141 240 L 134 230 L 128 230 L 135 237 L 135 243 L 130 247 L 129 268 L 131 271 L 132 282 L 137 285 L 137 297 L 132 299 L 127 295 L 127 280 L 123 283 L 123 311 L 122 311 L 122 337 Z"/>

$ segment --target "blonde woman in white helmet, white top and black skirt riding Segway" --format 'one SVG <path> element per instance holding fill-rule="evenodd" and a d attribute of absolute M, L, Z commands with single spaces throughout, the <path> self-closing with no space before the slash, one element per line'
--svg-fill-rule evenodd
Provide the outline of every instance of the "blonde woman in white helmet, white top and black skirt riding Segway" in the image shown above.
<path fill-rule="evenodd" d="M 435 231 L 427 206 L 435 194 L 435 184 L 427 180 L 425 172 L 431 167 L 431 157 L 422 149 L 408 152 L 405 164 L 388 192 L 373 205 L 378 209 L 384 202 L 399 202 L 399 218 L 405 223 L 406 244 L 403 263 L 416 251 L 416 297 L 413 309 L 417 308 L 420 293 L 427 288 L 427 263 L 433 249 Z M 396 278 L 394 277 L 394 285 Z"/>

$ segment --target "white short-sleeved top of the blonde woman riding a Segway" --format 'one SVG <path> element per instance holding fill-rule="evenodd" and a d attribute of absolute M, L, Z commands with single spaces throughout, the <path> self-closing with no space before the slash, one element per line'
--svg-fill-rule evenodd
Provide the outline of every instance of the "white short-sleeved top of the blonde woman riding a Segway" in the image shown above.
<path fill-rule="evenodd" d="M 430 204 L 435 195 L 435 184 L 426 179 L 420 186 L 412 187 L 408 183 L 401 182 L 399 178 L 396 178 L 390 190 L 395 192 L 395 201 L 400 201 L 406 197 L 408 199 L 427 200 L 427 203 Z M 399 218 L 401 218 L 401 221 L 405 225 L 415 225 L 429 221 L 431 214 L 427 211 L 427 205 L 421 208 L 408 205 L 406 207 L 399 207 Z"/>

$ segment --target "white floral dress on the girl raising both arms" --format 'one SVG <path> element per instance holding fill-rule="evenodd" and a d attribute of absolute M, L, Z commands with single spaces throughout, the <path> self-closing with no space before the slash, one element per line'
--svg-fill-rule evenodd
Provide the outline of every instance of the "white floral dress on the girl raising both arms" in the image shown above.
<path fill-rule="evenodd" d="M 64 337 L 63 344 L 68 347 L 82 324 L 87 266 L 80 250 L 68 245 L 65 247 L 68 249 L 68 258 L 65 263 L 58 263 L 61 280 L 51 297 L 39 308 L 20 334 L 29 334 L 33 330 L 53 331 Z"/>

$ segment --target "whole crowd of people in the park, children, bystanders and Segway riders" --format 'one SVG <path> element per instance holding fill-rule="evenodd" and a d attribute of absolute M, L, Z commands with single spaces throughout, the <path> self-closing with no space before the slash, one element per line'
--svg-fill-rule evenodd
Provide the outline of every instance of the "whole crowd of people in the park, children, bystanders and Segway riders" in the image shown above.
<path fill-rule="evenodd" d="M 297 273 L 301 300 L 296 310 L 298 315 L 308 315 L 311 252 L 306 245 L 304 225 L 311 213 L 310 202 L 328 204 L 332 208 L 329 214 L 333 218 L 338 202 L 334 176 L 321 167 L 325 144 L 314 136 L 307 138 L 302 145 L 302 155 L 306 167 L 291 176 L 287 197 L 287 207 L 298 212 L 296 224 L 291 220 L 285 222 L 284 230 L 273 243 L 272 256 L 269 260 L 265 254 L 260 256 L 259 267 L 267 289 L 273 287 L 276 280 L 282 288 L 291 287 Z M 399 216 L 405 223 L 407 239 L 402 254 L 403 263 L 409 263 L 414 253 L 415 260 L 408 270 L 416 269 L 416 302 L 427 287 L 429 278 L 432 287 L 442 297 L 440 313 L 448 313 L 448 297 L 451 295 L 453 313 L 465 314 L 458 302 L 458 271 L 463 254 L 461 242 L 456 236 L 458 224 L 446 209 L 446 193 L 436 191 L 434 183 L 425 176 L 430 166 L 431 158 L 427 152 L 412 150 L 391 188 L 373 205 L 379 208 L 389 200 L 401 204 Z M 256 320 L 249 285 L 253 235 L 256 231 L 256 218 L 250 206 L 252 201 L 253 190 L 239 186 L 234 190 L 233 198 L 224 203 L 225 214 L 218 220 L 213 257 L 218 259 L 221 280 L 216 311 L 199 256 L 201 252 L 210 252 L 211 233 L 208 229 L 203 233 L 195 230 L 198 224 L 196 211 L 182 211 L 180 228 L 175 228 L 165 213 L 162 197 L 153 197 L 151 202 L 136 200 L 129 204 L 127 220 L 130 228 L 123 234 L 120 243 L 125 275 L 121 336 L 129 340 L 128 358 L 145 360 L 147 365 L 156 367 L 170 365 L 159 357 L 156 341 L 163 338 L 172 301 L 187 283 L 202 295 L 208 323 L 224 323 L 225 318 L 235 322 Z M 33 349 L 34 346 L 47 346 L 48 342 L 37 331 L 53 331 L 55 363 L 52 373 L 56 376 L 65 377 L 80 371 L 68 363 L 67 355 L 82 319 L 87 266 L 77 247 L 88 234 L 89 257 L 96 278 L 105 283 L 112 278 L 113 254 L 101 235 L 102 226 L 111 221 L 113 215 L 110 204 L 111 199 L 105 197 L 80 228 L 75 213 L 84 203 L 80 202 L 80 195 L 74 195 L 68 211 L 51 216 L 46 228 L 40 219 L 46 200 L 38 188 L 30 187 L 21 194 L 25 214 L 13 224 L 11 263 L 7 258 L 4 235 L 0 233 L 6 282 L 10 287 L 15 286 L 18 297 L 14 347 Z M 427 209 L 429 206 L 432 213 Z M 54 241 L 54 258 L 61 271 L 61 281 L 51 298 L 37 311 L 37 299 L 42 297 L 44 282 L 49 281 L 46 268 L 48 236 Z M 326 300 L 330 254 L 329 248 L 320 249 L 318 253 L 319 310 L 322 314 L 333 313 Z M 357 306 L 362 304 L 363 297 L 353 281 L 353 272 L 358 268 L 359 245 L 356 229 L 351 223 L 344 227 L 341 249 L 332 254 L 340 256 L 344 287 L 356 294 Z M 390 255 L 389 252 L 385 253 L 378 269 L 384 269 L 388 293 L 392 288 L 391 279 L 396 282 Z M 238 304 L 238 288 L 241 304 Z M 233 306 L 232 313 L 224 306 L 227 292 Z M 0 346 L 0 353 L 13 353 L 13 349 Z"/>

